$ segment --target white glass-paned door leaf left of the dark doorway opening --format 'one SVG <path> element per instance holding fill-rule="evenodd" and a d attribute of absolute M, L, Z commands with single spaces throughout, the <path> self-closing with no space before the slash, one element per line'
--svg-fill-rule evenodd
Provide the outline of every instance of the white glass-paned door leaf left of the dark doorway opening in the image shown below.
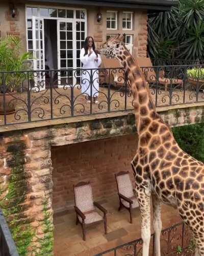
<path fill-rule="evenodd" d="M 44 19 L 33 16 L 33 69 L 37 72 L 34 74 L 34 90 L 45 90 L 45 69 L 44 60 Z M 39 71 L 39 72 L 38 72 Z"/>

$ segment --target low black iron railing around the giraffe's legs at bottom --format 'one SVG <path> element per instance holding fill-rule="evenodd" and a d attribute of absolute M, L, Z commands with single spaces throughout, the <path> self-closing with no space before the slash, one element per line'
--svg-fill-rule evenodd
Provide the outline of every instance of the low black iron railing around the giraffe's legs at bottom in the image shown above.
<path fill-rule="evenodd" d="M 149 256 L 154 256 L 155 234 L 151 234 Z M 184 222 L 168 227 L 161 232 L 161 255 L 194 255 L 195 245 L 191 232 Z M 142 239 L 119 245 L 109 250 L 95 254 L 95 256 L 136 256 L 142 255 Z"/>

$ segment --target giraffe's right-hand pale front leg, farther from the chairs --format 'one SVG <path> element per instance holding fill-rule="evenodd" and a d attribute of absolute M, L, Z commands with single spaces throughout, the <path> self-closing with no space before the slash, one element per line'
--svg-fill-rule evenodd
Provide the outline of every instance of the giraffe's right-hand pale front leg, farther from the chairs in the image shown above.
<path fill-rule="evenodd" d="M 160 256 L 160 234 L 162 230 L 161 201 L 155 194 L 151 195 L 153 206 L 153 227 L 155 230 L 155 255 Z"/>

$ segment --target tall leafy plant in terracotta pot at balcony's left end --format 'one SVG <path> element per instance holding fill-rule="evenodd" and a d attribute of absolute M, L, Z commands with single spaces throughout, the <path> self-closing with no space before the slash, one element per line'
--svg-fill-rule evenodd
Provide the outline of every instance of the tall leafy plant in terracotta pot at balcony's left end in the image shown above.
<path fill-rule="evenodd" d="M 0 115 L 15 112 L 15 94 L 28 70 L 29 53 L 21 54 L 21 38 L 9 35 L 0 40 Z M 5 101 L 4 101 L 5 99 Z"/>

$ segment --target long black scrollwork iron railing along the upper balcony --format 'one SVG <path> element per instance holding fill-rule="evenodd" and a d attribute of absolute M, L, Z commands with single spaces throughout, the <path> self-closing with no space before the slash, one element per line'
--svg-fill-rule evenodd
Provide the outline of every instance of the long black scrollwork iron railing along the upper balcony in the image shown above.
<path fill-rule="evenodd" d="M 141 69 L 156 106 L 204 104 L 204 65 Z M 128 110 L 123 68 L 0 72 L 0 126 Z"/>

